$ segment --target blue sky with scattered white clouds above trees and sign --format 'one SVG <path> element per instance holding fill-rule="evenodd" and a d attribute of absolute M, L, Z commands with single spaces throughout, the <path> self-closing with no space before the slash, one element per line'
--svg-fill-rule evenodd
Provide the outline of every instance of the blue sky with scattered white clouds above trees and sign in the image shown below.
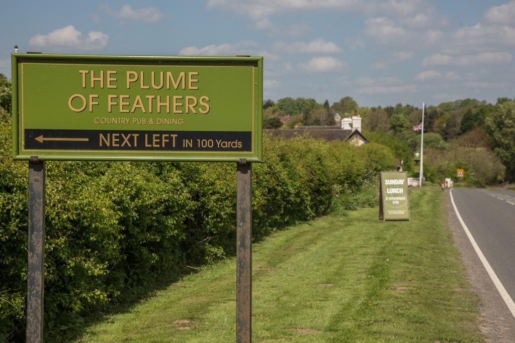
<path fill-rule="evenodd" d="M 515 97 L 515 0 L 4 1 L 10 53 L 264 57 L 264 99 Z"/>

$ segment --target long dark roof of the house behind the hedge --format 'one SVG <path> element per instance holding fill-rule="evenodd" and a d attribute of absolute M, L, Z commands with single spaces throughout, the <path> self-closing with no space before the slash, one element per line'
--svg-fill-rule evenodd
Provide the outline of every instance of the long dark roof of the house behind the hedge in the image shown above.
<path fill-rule="evenodd" d="M 359 132 L 358 130 L 341 130 L 338 127 L 323 127 L 323 126 L 312 126 L 312 127 L 297 127 L 295 129 L 281 130 L 281 129 L 265 129 L 264 132 L 268 132 L 273 136 L 283 136 L 291 138 L 295 136 L 308 135 L 313 138 L 325 139 L 325 140 L 349 140 L 354 137 L 361 138 L 365 143 L 368 143 L 368 139 Z"/>

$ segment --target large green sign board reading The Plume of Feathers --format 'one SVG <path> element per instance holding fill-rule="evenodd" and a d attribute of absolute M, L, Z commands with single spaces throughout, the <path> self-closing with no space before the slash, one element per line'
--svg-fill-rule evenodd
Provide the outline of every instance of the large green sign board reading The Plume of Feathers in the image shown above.
<path fill-rule="evenodd" d="M 13 158 L 262 160 L 263 58 L 13 53 Z"/>

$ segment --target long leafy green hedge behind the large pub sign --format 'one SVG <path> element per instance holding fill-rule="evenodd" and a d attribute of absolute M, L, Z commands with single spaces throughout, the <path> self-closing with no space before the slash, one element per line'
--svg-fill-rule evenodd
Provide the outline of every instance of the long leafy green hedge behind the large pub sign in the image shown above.
<path fill-rule="evenodd" d="M 0 340 L 22 340 L 28 172 L 27 163 L 11 160 L 10 122 L 5 112 L 0 117 Z M 377 172 L 394 167 L 383 146 L 306 137 L 265 136 L 264 156 L 253 165 L 255 240 L 335 208 L 369 205 L 375 191 L 356 194 L 370 193 Z M 71 326 L 164 273 L 232 255 L 235 167 L 48 162 L 45 331 Z"/>

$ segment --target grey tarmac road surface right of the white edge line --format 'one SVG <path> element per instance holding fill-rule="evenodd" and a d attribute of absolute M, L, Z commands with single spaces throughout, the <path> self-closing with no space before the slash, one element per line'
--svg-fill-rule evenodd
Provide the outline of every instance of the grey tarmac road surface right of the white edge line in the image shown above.
<path fill-rule="evenodd" d="M 486 260 L 515 299 L 515 192 L 456 188 L 452 195 Z"/>

